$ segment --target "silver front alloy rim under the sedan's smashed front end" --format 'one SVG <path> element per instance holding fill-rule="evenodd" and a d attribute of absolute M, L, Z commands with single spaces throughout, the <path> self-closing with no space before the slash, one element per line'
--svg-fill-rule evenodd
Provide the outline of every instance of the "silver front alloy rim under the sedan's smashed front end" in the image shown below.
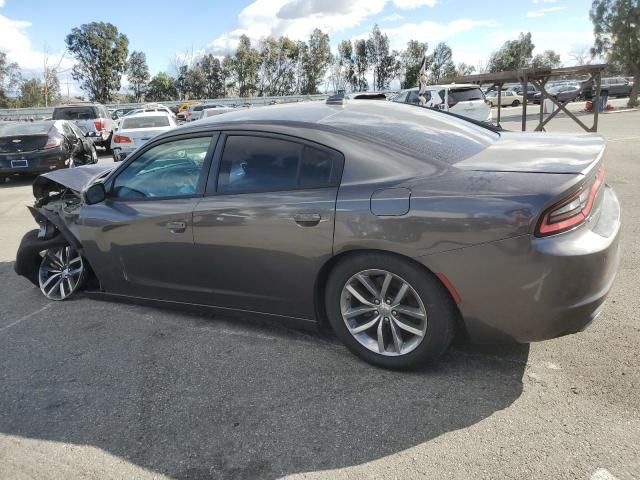
<path fill-rule="evenodd" d="M 40 263 L 40 291 L 49 300 L 64 300 L 78 290 L 84 275 L 84 261 L 78 252 L 70 246 L 51 248 Z"/>

